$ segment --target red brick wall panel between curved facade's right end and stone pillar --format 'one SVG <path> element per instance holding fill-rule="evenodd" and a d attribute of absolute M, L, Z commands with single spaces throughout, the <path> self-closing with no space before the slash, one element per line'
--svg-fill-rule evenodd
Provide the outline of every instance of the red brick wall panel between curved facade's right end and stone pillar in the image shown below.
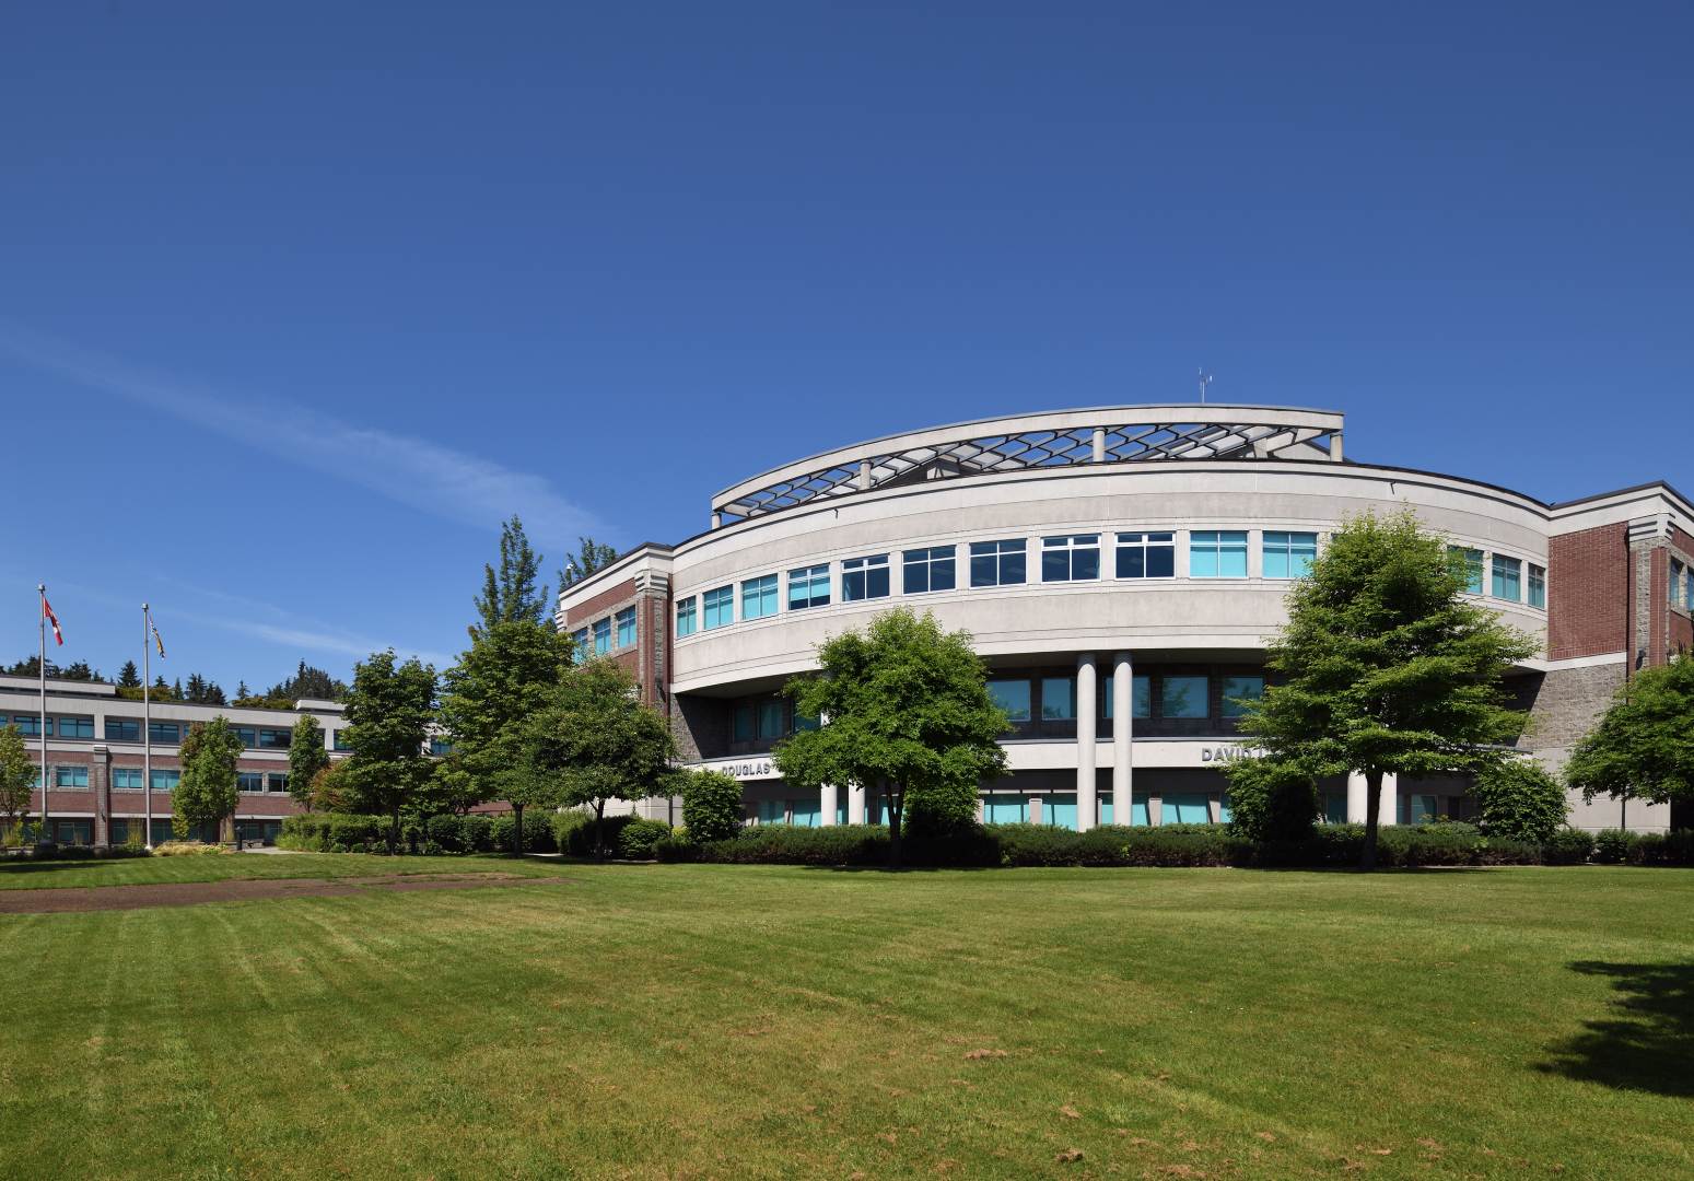
<path fill-rule="evenodd" d="M 1601 525 L 1548 539 L 1547 656 L 1567 661 L 1628 647 L 1628 525 Z"/>

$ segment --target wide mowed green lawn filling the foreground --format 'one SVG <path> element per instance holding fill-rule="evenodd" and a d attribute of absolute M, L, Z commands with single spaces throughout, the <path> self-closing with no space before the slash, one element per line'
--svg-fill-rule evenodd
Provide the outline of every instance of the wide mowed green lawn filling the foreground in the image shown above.
<path fill-rule="evenodd" d="M 0 917 L 0 1171 L 1694 1174 L 1694 873 L 534 873 Z"/>

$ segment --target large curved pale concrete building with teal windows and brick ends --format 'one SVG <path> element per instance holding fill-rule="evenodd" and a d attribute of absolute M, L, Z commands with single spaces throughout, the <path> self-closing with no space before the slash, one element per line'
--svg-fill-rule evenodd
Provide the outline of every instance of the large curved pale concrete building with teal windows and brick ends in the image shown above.
<path fill-rule="evenodd" d="M 971 632 L 1013 717 L 984 820 L 1077 829 L 1228 817 L 1235 701 L 1264 686 L 1291 579 L 1365 510 L 1411 507 L 1464 551 L 1470 593 L 1540 644 L 1511 688 L 1531 712 L 1525 749 L 1553 769 L 1635 669 L 1694 644 L 1694 505 L 1669 485 L 1550 505 L 1359 463 L 1343 434 L 1323 410 L 1164 405 L 874 439 L 720 491 L 706 532 L 564 590 L 557 624 L 630 668 L 689 766 L 744 783 L 749 822 L 808 825 L 881 808 L 783 783 L 771 749 L 806 720 L 781 686 L 894 605 Z M 1325 815 L 1364 818 L 1360 776 L 1325 785 Z M 1386 822 L 1440 815 L 1474 815 L 1464 776 L 1384 785 Z M 1581 798 L 1570 818 L 1691 822 Z"/>

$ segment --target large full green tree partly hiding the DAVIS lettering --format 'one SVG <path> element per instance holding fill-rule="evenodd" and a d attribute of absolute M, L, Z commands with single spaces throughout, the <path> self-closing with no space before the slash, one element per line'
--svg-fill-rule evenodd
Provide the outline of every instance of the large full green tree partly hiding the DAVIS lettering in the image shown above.
<path fill-rule="evenodd" d="M 1345 522 L 1287 593 L 1265 647 L 1277 674 L 1240 732 L 1289 773 L 1365 778 L 1362 869 L 1376 868 L 1384 774 L 1484 771 L 1523 732 L 1501 678 L 1535 644 L 1465 598 L 1450 557 L 1409 512 Z"/>

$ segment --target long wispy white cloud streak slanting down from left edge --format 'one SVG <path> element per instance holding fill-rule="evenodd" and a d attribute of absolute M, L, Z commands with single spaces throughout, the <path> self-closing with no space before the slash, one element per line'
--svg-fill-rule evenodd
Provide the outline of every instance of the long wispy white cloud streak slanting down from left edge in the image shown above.
<path fill-rule="evenodd" d="M 515 512 L 552 552 L 564 552 L 578 535 L 596 532 L 593 515 L 561 496 L 545 476 L 427 439 L 151 373 L 5 319 L 0 319 L 0 352 L 444 520 L 493 529 Z"/>

